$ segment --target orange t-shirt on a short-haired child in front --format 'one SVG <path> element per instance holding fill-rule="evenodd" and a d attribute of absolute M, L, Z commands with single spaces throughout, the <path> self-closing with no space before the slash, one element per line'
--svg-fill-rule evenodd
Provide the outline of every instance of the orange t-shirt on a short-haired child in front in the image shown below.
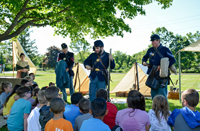
<path fill-rule="evenodd" d="M 60 118 L 58 120 L 49 120 L 44 131 L 74 131 L 71 122 Z"/>

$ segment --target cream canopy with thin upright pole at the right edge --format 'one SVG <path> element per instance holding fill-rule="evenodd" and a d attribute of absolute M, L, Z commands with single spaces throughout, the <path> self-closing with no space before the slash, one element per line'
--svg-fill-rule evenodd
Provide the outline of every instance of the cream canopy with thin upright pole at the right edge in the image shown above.
<path fill-rule="evenodd" d="M 189 46 L 179 50 L 178 52 L 178 63 L 179 63 L 179 100 L 181 102 L 181 51 L 192 51 L 200 52 L 200 39 L 190 44 Z"/>

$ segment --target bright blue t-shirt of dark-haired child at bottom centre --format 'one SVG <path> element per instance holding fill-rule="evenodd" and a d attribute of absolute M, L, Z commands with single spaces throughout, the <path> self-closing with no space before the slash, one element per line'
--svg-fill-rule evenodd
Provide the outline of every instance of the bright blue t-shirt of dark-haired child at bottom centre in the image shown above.
<path fill-rule="evenodd" d="M 83 121 L 80 131 L 111 131 L 109 126 L 97 118 L 90 118 Z"/>

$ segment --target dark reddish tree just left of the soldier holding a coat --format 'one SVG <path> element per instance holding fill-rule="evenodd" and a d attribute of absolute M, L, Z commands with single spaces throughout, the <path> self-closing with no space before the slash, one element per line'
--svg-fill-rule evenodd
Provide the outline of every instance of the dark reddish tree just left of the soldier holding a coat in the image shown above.
<path fill-rule="evenodd" d="M 45 68 L 55 68 L 58 53 L 61 52 L 61 50 L 56 46 L 51 46 L 47 48 L 47 53 L 45 54 L 45 58 L 43 59 L 43 65 Z"/>

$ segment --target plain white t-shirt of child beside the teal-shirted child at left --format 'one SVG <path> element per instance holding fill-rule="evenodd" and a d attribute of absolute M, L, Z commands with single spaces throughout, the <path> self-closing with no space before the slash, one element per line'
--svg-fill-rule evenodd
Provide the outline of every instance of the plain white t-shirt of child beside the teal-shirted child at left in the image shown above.
<path fill-rule="evenodd" d="M 41 125 L 39 122 L 39 116 L 40 116 L 40 112 L 39 112 L 40 108 L 35 107 L 29 117 L 28 117 L 28 127 L 27 130 L 28 131 L 41 131 Z"/>

